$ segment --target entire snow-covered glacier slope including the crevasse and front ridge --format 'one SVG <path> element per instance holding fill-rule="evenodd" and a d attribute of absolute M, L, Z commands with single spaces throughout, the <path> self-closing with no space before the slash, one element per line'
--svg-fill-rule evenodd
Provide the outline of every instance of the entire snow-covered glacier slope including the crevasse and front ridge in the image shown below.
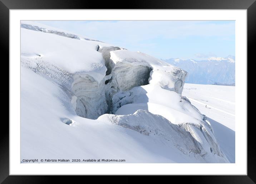
<path fill-rule="evenodd" d="M 23 23 L 21 160 L 229 162 L 207 117 L 181 95 L 186 71 Z"/>

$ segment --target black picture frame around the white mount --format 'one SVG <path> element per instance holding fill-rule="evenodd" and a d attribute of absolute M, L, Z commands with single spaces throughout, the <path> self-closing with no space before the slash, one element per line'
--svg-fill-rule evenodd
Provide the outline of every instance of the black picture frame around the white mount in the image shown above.
<path fill-rule="evenodd" d="M 88 0 L 0 0 L 0 42 L 1 53 L 5 56 L 6 68 L 9 61 L 9 10 L 10 9 L 247 9 L 247 65 L 253 62 L 256 45 L 256 1 L 255 0 L 131 0 L 124 5 L 120 1 L 88 1 Z M 5 71 L 9 71 L 5 69 Z M 247 72 L 248 73 L 248 72 Z M 6 74 L 7 76 L 8 74 Z M 8 75 L 9 76 L 9 75 Z M 249 80 L 249 77 L 247 77 Z M 248 84 L 248 82 L 247 82 Z M 9 80 L 3 81 L 6 90 L 0 90 L 1 97 L 9 96 Z M 248 88 L 247 88 L 248 90 Z M 8 92 L 8 94 L 7 94 Z M 248 95 L 248 91 L 247 91 Z M 10 96 L 9 96 L 10 99 Z M 7 100 L 7 98 L 6 98 Z M 5 106 L 5 107 L 9 107 Z M 7 112 L 8 111 L 8 112 Z M 1 113 L 9 114 L 9 108 Z M 247 113 L 248 114 L 248 113 Z M 247 122 L 245 122 L 247 123 Z M 255 138 L 254 121 L 247 123 L 247 175 L 209 175 L 209 176 L 171 176 L 189 183 L 255 183 Z M 84 176 L 28 176 L 9 175 L 9 125 L 1 123 L 0 133 L 0 182 L 3 183 L 75 183 Z M 87 176 L 89 177 L 89 176 Z M 90 177 L 89 177 L 90 178 Z M 151 177 L 148 177 L 151 179 Z M 126 181 L 132 182 L 127 179 Z"/>

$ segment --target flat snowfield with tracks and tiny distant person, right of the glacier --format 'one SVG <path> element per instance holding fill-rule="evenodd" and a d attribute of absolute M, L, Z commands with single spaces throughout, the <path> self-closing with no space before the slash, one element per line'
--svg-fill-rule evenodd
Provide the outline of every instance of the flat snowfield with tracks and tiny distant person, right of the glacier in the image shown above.
<path fill-rule="evenodd" d="M 222 151 L 235 163 L 235 86 L 185 83 L 182 94 L 207 116 Z"/>

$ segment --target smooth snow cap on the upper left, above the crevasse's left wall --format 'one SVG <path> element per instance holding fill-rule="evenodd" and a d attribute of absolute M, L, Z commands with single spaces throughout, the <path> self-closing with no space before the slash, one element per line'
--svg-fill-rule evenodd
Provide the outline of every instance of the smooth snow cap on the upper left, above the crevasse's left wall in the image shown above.
<path fill-rule="evenodd" d="M 98 44 L 21 28 L 21 58 L 40 57 L 70 73 L 86 73 L 101 81 L 107 69 L 96 50 Z"/>

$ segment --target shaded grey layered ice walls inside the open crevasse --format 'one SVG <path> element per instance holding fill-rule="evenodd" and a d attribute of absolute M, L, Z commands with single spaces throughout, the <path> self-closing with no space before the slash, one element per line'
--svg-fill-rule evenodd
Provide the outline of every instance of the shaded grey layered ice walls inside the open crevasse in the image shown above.
<path fill-rule="evenodd" d="M 148 84 L 152 68 L 119 62 L 114 64 L 110 59 L 110 51 L 114 50 L 120 50 L 120 48 L 97 48 L 97 51 L 102 52 L 107 67 L 106 75 L 99 83 L 89 75 L 73 76 L 72 90 L 77 97 L 75 112 L 78 116 L 97 119 L 102 114 L 111 114 L 113 112 L 112 97 L 115 93 Z"/>

